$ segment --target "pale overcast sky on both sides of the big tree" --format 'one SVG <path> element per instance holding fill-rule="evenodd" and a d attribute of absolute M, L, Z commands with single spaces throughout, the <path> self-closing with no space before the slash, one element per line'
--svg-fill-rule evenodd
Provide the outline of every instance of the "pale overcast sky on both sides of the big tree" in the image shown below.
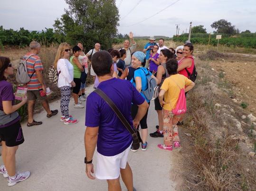
<path fill-rule="evenodd" d="M 214 29 L 210 25 L 219 19 L 228 20 L 240 31 L 256 32 L 256 0 L 178 0 L 171 5 L 175 1 L 116 0 L 117 7 L 120 5 L 119 33 L 133 31 L 136 36 L 172 36 L 176 34 L 176 24 L 180 25 L 180 34 L 186 32 L 186 28 L 189 31 L 190 21 L 192 26 L 204 25 L 207 32 L 212 32 Z M 64 8 L 68 8 L 65 0 L 1 0 L 0 25 L 15 30 L 20 27 L 28 30 L 53 28 L 54 20 L 61 17 Z M 139 24 L 134 25 L 136 23 Z"/>

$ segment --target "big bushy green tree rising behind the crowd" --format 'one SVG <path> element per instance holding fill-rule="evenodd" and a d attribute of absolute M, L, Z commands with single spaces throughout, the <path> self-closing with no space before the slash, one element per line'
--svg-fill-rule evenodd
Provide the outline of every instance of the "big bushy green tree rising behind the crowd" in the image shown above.
<path fill-rule="evenodd" d="M 67 43 L 84 43 L 88 51 L 95 43 L 103 49 L 112 46 L 119 21 L 115 0 L 65 0 L 69 5 L 60 19 L 55 20 L 55 36 Z"/>

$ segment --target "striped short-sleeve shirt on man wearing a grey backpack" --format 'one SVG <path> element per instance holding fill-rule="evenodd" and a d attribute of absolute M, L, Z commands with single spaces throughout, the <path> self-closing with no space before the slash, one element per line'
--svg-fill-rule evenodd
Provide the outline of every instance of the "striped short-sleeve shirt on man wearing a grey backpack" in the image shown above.
<path fill-rule="evenodd" d="M 24 58 L 27 59 L 30 55 L 32 55 L 31 52 L 28 52 Z M 28 69 L 28 75 L 31 76 L 33 73 L 33 76 L 31 77 L 31 80 L 27 83 L 28 90 L 39 90 L 42 88 L 42 85 L 40 84 L 38 80 L 38 76 L 35 71 L 43 70 L 43 64 L 40 60 L 38 55 L 30 56 L 27 60 L 27 69 Z"/>

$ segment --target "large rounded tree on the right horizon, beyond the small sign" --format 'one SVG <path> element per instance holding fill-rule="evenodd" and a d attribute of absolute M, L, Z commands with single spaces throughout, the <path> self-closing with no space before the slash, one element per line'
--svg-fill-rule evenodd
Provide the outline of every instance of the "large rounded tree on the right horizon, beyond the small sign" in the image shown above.
<path fill-rule="evenodd" d="M 239 33 L 239 30 L 235 28 L 235 26 L 228 22 L 225 19 L 220 19 L 211 24 L 212 28 L 217 29 L 217 33 L 224 33 L 229 35 L 235 35 Z"/>

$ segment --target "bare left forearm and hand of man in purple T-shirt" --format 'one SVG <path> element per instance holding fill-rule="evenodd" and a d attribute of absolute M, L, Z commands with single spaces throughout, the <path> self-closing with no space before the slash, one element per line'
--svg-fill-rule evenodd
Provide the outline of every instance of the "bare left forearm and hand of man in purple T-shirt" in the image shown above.
<path fill-rule="evenodd" d="M 86 127 L 85 130 L 85 156 L 87 161 L 93 159 L 94 151 L 97 144 L 99 127 Z M 86 164 L 86 175 L 90 179 L 95 179 L 91 174 L 94 173 L 93 164 Z"/>

